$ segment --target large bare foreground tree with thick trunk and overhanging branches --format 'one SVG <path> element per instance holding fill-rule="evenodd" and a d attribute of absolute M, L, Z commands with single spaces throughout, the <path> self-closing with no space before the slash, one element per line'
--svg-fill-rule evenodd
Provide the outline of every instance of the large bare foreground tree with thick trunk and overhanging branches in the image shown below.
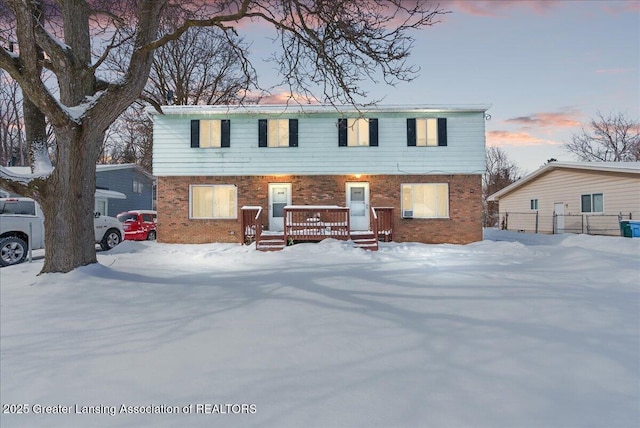
<path fill-rule="evenodd" d="M 34 178 L 18 182 L 0 167 L 3 186 L 36 197 L 43 207 L 43 273 L 97 261 L 92 236 L 96 161 L 107 128 L 140 97 L 156 49 L 190 28 L 210 27 L 229 36 L 229 45 L 249 63 L 230 35 L 242 29 L 240 23 L 261 20 L 278 32 L 282 51 L 274 60 L 294 92 L 355 103 L 367 95 L 360 85 L 365 79 L 381 76 L 393 84 L 415 77 L 417 70 L 406 62 L 413 41 L 409 32 L 434 24 L 444 13 L 421 0 L 65 0 L 48 5 L 42 21 L 37 3 L 3 0 L 1 6 L 2 25 L 16 25 L 15 34 L 0 28 L 0 67 L 47 116 L 56 136 L 55 169 L 36 169 Z M 175 30 L 158 37 L 161 18 L 168 16 Z M 133 35 L 125 27 L 134 28 Z M 17 53 L 6 47 L 14 36 Z M 133 48 L 125 72 L 101 72 L 128 39 Z M 41 66 L 55 74 L 59 98 L 44 84 Z"/>

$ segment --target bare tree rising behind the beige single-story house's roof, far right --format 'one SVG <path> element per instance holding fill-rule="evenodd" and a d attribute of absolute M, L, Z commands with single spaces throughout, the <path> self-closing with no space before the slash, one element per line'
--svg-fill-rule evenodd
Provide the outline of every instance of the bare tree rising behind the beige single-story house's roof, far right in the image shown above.
<path fill-rule="evenodd" d="M 598 112 L 565 149 L 581 161 L 640 161 L 640 123 L 624 114 Z"/>

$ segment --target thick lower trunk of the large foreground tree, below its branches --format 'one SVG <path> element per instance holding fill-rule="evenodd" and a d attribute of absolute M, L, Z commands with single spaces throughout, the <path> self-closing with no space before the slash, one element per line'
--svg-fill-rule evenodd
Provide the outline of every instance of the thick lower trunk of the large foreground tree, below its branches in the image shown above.
<path fill-rule="evenodd" d="M 87 135 L 82 129 L 56 129 L 57 164 L 40 195 L 47 254 L 40 273 L 69 272 L 97 262 L 93 212 L 103 135 Z"/>

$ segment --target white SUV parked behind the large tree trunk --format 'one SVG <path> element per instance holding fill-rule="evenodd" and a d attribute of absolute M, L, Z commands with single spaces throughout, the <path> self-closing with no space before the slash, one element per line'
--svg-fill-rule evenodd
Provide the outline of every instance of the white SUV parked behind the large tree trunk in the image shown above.
<path fill-rule="evenodd" d="M 110 250 L 122 241 L 122 224 L 114 217 L 96 213 L 93 219 L 95 242 Z M 44 248 L 44 214 L 31 198 L 0 198 L 0 266 L 22 263 L 29 244 Z"/>

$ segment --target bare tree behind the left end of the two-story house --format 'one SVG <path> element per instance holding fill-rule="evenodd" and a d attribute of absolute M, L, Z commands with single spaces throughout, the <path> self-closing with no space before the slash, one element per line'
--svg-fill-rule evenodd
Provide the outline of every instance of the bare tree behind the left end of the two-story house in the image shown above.
<path fill-rule="evenodd" d="M 173 31 L 165 25 L 163 33 Z M 229 41 L 231 38 L 231 43 Z M 256 72 L 238 49 L 248 46 L 233 34 L 222 35 L 211 28 L 193 28 L 180 39 L 159 47 L 153 59 L 149 82 L 141 101 L 134 103 L 109 129 L 101 163 L 137 163 L 152 171 L 151 120 L 143 109 L 151 104 L 215 105 L 239 104 L 256 87 Z M 124 52 L 109 61 L 109 68 L 124 72 Z M 148 104 L 147 104 L 148 103 Z"/>

